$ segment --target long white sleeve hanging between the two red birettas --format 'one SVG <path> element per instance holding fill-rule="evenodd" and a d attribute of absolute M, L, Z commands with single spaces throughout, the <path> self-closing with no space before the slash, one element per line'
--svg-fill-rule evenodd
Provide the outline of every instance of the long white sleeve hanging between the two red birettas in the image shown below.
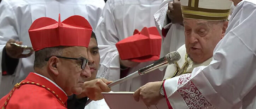
<path fill-rule="evenodd" d="M 119 54 L 115 46 L 119 39 L 111 5 L 111 1 L 106 2 L 95 31 L 100 48 L 100 69 L 97 77 L 104 77 L 110 81 L 115 81 L 120 78 Z M 115 86 L 111 89 L 115 91 Z M 117 90 L 119 89 L 117 88 Z"/>

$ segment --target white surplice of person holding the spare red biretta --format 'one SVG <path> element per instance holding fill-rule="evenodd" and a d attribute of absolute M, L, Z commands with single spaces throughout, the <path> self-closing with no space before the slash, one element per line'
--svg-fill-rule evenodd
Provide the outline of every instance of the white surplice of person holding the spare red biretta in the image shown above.
<path fill-rule="evenodd" d="M 120 79 L 119 54 L 115 44 L 133 35 L 135 29 L 155 26 L 153 14 L 158 10 L 162 0 L 107 0 L 100 17 L 95 34 L 100 48 L 100 69 L 97 77 L 111 81 Z M 140 63 L 129 69 L 129 73 L 150 64 Z M 134 78 L 123 84 L 113 86 L 112 91 L 135 91 L 150 81 L 159 81 L 163 73 L 155 70 L 147 75 Z M 122 86 L 120 88 L 119 86 Z"/>

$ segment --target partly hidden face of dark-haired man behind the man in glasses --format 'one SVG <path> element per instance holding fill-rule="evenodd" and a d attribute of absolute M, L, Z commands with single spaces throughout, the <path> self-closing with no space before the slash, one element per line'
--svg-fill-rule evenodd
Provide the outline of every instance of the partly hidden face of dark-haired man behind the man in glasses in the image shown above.
<path fill-rule="evenodd" d="M 91 77 L 87 78 L 86 81 L 91 81 L 96 78 L 99 65 L 100 65 L 100 55 L 99 55 L 99 48 L 97 45 L 97 41 L 94 38 L 91 38 L 89 46 L 87 48 L 87 55 L 88 55 L 88 65 L 91 70 Z"/>

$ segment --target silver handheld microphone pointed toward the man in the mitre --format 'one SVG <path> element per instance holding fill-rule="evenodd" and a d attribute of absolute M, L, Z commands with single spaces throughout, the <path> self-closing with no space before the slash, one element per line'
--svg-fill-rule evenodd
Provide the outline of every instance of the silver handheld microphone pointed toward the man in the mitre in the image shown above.
<path fill-rule="evenodd" d="M 132 78 L 135 78 L 135 77 L 138 77 L 138 76 L 141 76 L 141 75 L 145 75 L 146 73 L 149 73 L 149 72 L 151 72 L 153 70 L 156 70 L 158 68 L 161 68 L 163 66 L 174 64 L 178 60 L 180 60 L 180 53 L 178 51 L 170 52 L 167 55 L 165 55 L 164 57 L 156 60 L 152 64 L 150 64 L 150 65 L 148 65 L 144 68 L 141 68 L 138 71 L 136 71 L 136 72 L 124 77 L 124 78 L 118 79 L 117 81 L 114 81 L 114 82 L 110 83 L 107 86 L 112 87 L 116 84 L 123 83 L 124 81 L 126 81 L 128 79 L 132 79 Z"/>

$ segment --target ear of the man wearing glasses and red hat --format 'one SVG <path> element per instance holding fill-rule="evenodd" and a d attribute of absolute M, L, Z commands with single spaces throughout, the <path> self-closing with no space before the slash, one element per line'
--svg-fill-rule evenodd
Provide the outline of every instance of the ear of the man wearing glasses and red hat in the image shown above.
<path fill-rule="evenodd" d="M 59 72 L 58 72 L 58 64 L 60 63 L 59 58 L 53 56 L 48 60 L 48 69 L 50 70 L 50 72 L 55 75 L 58 76 Z"/>

